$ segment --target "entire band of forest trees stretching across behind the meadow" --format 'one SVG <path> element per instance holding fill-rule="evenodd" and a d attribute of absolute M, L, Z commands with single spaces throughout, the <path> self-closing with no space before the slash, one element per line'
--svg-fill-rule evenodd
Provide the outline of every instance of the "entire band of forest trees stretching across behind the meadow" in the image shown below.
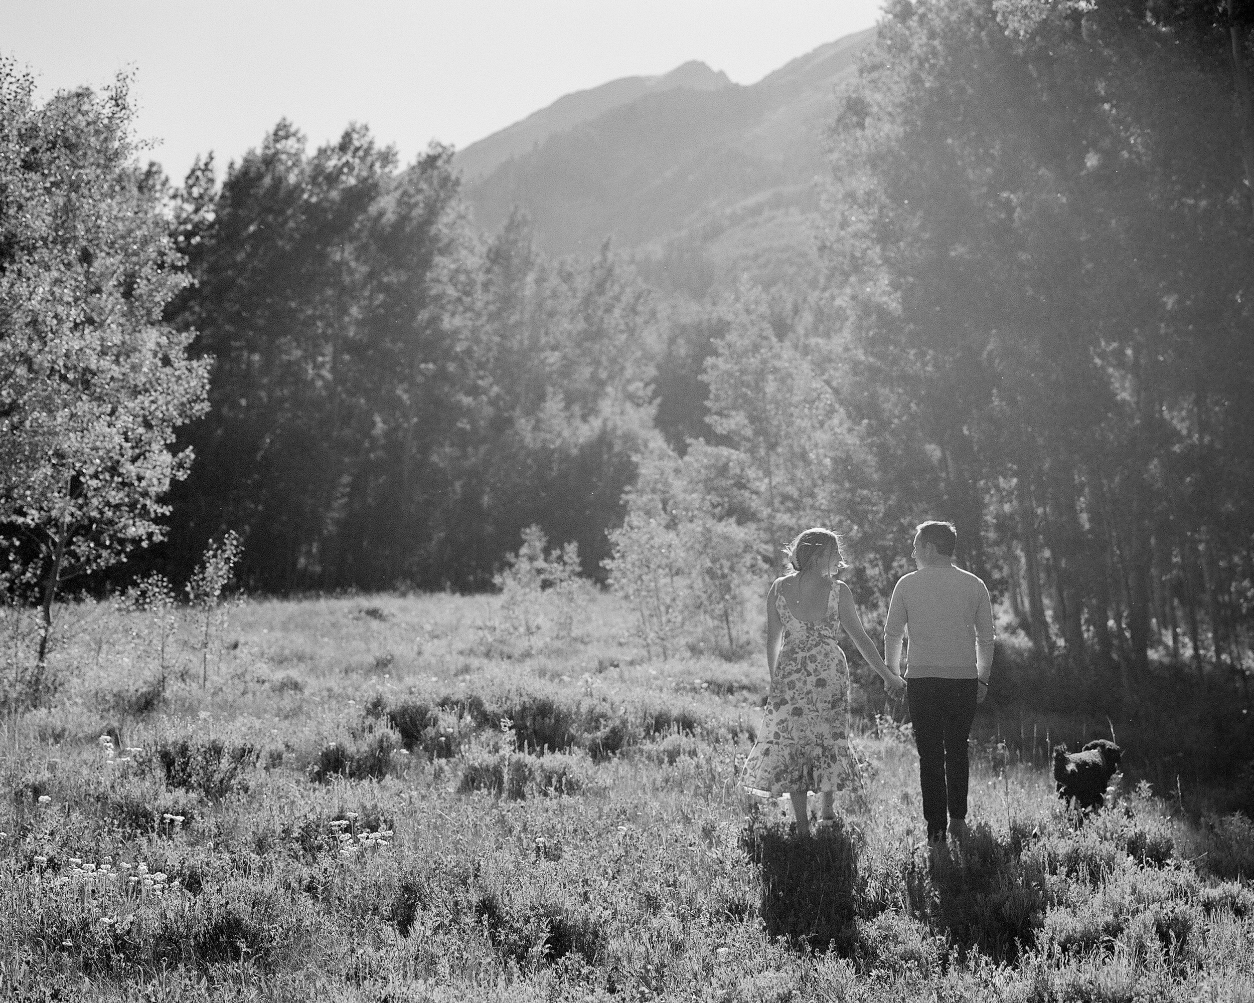
<path fill-rule="evenodd" d="M 830 123 L 823 282 L 770 290 L 482 234 L 450 150 L 364 127 L 171 186 L 124 88 L 40 107 L 5 66 L 6 582 L 181 579 L 234 530 L 253 591 L 482 589 L 538 525 L 660 638 L 700 596 L 735 648 L 796 530 L 846 535 L 874 609 L 947 518 L 1040 654 L 1244 670 L 1251 19 L 892 0 Z"/>

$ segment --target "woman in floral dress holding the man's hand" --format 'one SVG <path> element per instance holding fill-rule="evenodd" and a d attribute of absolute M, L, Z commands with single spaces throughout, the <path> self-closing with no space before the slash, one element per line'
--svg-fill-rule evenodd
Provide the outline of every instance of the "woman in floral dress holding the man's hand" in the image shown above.
<path fill-rule="evenodd" d="M 771 687 L 762 737 L 749 754 L 742 782 L 774 797 L 788 791 L 798 835 L 809 835 L 806 791 L 820 794 L 819 825 L 830 825 L 833 794 L 851 770 L 849 663 L 836 643 L 841 624 L 889 695 L 900 696 L 905 683 L 867 637 L 849 586 L 834 578 L 845 567 L 839 537 L 808 529 L 784 553 L 793 570 L 766 593 Z"/>

